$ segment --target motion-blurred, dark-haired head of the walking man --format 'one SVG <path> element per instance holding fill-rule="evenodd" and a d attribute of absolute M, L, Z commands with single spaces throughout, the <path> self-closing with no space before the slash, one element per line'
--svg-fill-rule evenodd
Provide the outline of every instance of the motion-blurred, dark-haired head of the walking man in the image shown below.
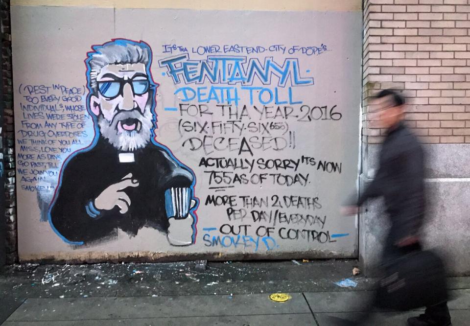
<path fill-rule="evenodd" d="M 380 128 L 391 128 L 403 119 L 404 98 L 393 90 L 380 91 L 371 103 L 372 120 Z"/>

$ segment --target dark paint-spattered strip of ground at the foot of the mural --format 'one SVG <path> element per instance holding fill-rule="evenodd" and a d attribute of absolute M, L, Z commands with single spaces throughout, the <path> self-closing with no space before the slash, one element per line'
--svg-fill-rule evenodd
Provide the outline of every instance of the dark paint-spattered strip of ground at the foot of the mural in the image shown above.
<path fill-rule="evenodd" d="M 116 263 L 64 265 L 11 265 L 6 272 L 4 289 L 14 291 L 21 297 L 83 298 L 121 296 L 123 288 L 129 288 L 133 296 L 178 296 L 186 293 L 212 295 L 218 289 L 221 296 L 231 292 L 260 293 L 266 297 L 273 292 L 314 292 L 321 288 L 338 288 L 339 282 L 350 278 L 357 286 L 371 286 L 374 280 L 352 276 L 357 261 L 316 261 L 303 258 L 273 262 L 209 262 L 205 271 L 196 271 L 194 261 L 178 263 Z M 339 267 L 336 267 L 338 264 Z M 305 265 L 304 267 L 300 265 Z M 344 267 L 343 267 L 344 266 Z M 307 268 L 308 267 L 308 268 Z M 34 272 L 32 269 L 34 268 Z M 306 268 L 306 269 L 305 269 Z M 310 271 L 310 268 L 312 269 Z M 316 273 L 331 268 L 331 272 Z M 298 273 L 299 279 L 285 279 L 284 271 Z M 34 274 L 34 275 L 33 275 Z M 139 275 L 140 274 L 140 275 Z M 297 274 L 296 274 L 297 275 Z M 312 277 L 309 277 L 312 275 Z M 305 278 L 306 277 L 306 278 Z M 178 283 L 175 283 L 177 281 Z M 359 284 L 360 282 L 360 284 Z M 60 284 L 54 286 L 54 284 Z M 23 284 L 23 285 L 21 285 Z M 29 286 L 28 286 L 29 284 Z M 215 286 L 216 285 L 216 286 Z M 276 285 L 276 286 L 274 286 Z M 187 289 L 191 287 L 191 290 Z M 343 289 L 348 290 L 348 287 Z M 350 290 L 355 287 L 350 287 Z M 281 291 L 282 290 L 282 291 Z M 5 290 L 0 290 L 3 295 Z M 28 294 L 29 291 L 29 294 Z M 5 292 L 6 293 L 6 292 Z M 216 295 L 219 295 L 218 292 Z M 235 300 L 235 299 L 234 299 Z"/>

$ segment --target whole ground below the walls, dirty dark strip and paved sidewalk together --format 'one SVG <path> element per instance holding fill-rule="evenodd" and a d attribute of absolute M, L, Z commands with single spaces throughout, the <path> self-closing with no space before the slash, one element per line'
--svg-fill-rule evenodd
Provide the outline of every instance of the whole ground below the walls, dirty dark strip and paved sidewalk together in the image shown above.
<path fill-rule="evenodd" d="M 354 261 L 99 264 L 11 268 L 0 277 L 3 325 L 333 325 L 363 309 L 373 280 Z M 335 282 L 350 278 L 357 286 Z M 48 281 L 49 280 L 49 281 Z M 469 325 L 470 278 L 449 279 L 454 326 Z M 291 296 L 276 303 L 269 294 Z M 420 312 L 377 311 L 371 325 L 405 325 Z"/>

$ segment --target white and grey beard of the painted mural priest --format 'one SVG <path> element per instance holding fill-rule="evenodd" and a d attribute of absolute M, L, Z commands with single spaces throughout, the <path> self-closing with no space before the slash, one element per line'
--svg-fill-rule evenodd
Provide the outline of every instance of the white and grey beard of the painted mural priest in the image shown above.
<path fill-rule="evenodd" d="M 137 117 L 136 117 L 137 118 Z M 138 117 L 141 122 L 139 131 L 118 132 L 115 126 L 110 125 L 110 121 L 102 115 L 98 116 L 98 125 L 101 135 L 107 139 L 115 148 L 120 151 L 133 152 L 136 149 L 143 148 L 150 141 L 153 123 L 153 115 L 149 108 L 145 108 L 143 116 Z"/>

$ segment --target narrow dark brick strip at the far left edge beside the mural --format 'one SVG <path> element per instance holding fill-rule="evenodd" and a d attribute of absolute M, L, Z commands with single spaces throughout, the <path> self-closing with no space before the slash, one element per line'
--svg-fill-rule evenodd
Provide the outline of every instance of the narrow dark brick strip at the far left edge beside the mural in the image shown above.
<path fill-rule="evenodd" d="M 5 215 L 6 263 L 18 261 L 17 225 L 16 225 L 16 191 L 15 191 L 15 154 L 13 124 L 13 90 L 11 70 L 11 34 L 10 34 L 10 1 L 0 0 L 0 28 L 2 42 L 2 88 L 3 88 L 3 161 L 5 167 Z"/>

